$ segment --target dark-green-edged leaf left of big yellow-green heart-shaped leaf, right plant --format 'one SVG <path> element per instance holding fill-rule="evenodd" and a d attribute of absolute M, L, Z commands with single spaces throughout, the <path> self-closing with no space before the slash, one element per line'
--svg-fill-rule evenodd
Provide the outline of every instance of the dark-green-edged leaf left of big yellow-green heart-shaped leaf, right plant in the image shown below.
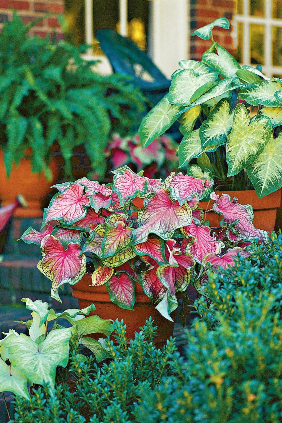
<path fill-rule="evenodd" d="M 229 99 L 222 99 L 208 118 L 200 126 L 200 138 L 203 151 L 215 151 L 217 147 L 226 144 L 233 124 L 234 110 L 231 111 Z"/>

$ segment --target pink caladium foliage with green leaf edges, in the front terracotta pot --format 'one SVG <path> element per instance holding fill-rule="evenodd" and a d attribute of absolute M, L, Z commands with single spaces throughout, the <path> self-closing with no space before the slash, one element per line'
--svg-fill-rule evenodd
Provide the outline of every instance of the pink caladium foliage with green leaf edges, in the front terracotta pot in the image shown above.
<path fill-rule="evenodd" d="M 235 255 L 246 254 L 250 240 L 268 240 L 252 224 L 251 206 L 214 192 L 213 209 L 223 219 L 211 232 L 200 198 L 212 183 L 182 173 L 161 182 L 123 166 L 115 170 L 112 185 L 86 178 L 56 185 L 59 192 L 45 209 L 43 222 L 52 220 L 52 226 L 47 224 L 43 232 L 28 228 L 22 240 L 41 244 L 38 269 L 52 280 L 52 297 L 60 300 L 59 287 L 83 277 L 88 260 L 92 286 L 105 285 L 115 304 L 134 309 L 135 283 L 140 283 L 160 313 L 171 319 L 177 293 L 189 283 L 204 292 L 209 267 L 232 266 Z M 136 197 L 144 204 L 137 217 Z M 101 207 L 94 205 L 95 198 Z"/>

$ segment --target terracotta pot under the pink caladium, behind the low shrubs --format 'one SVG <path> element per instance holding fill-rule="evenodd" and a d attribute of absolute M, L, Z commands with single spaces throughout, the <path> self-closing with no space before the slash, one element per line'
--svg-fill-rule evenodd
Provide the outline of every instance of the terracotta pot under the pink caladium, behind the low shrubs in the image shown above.
<path fill-rule="evenodd" d="M 143 292 L 142 286 L 138 282 L 135 283 L 134 311 L 125 310 L 114 304 L 110 299 L 106 285 L 89 286 L 91 283 L 91 275 L 86 273 L 79 282 L 71 287 L 73 289 L 72 295 L 78 299 L 80 309 L 88 307 L 91 303 L 96 306 L 96 310 L 91 311 L 90 316 L 97 315 L 101 319 L 123 319 L 124 324 L 126 324 L 126 336 L 129 339 L 134 338 L 134 333 L 139 332 L 139 327 L 144 326 L 146 319 L 152 316 L 154 326 L 158 327 L 158 338 L 155 341 L 158 347 L 164 346 L 167 339 L 173 335 L 174 321 L 165 319 L 156 310 L 156 305 L 151 303 L 151 299 Z M 176 310 L 171 313 L 171 317 L 175 320 Z M 99 339 L 104 335 L 95 334 L 92 336 Z"/>

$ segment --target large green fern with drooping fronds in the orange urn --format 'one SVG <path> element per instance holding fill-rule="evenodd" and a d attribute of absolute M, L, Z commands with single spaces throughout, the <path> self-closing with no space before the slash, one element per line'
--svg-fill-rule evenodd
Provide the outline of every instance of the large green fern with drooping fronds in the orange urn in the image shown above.
<path fill-rule="evenodd" d="M 30 147 L 33 172 L 51 177 L 50 151 L 58 143 L 66 176 L 73 148 L 83 144 L 103 177 L 110 131 L 126 135 L 138 125 L 142 93 L 128 77 L 98 74 L 94 61 L 81 58 L 88 46 L 28 36 L 35 23 L 25 26 L 14 12 L 0 34 L 0 146 L 7 175 Z"/>

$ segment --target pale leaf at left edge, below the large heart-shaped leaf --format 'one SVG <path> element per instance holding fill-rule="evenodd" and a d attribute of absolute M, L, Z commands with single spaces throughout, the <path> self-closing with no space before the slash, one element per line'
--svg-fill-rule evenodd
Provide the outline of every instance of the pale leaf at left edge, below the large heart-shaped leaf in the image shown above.
<path fill-rule="evenodd" d="M 0 359 L 0 392 L 13 392 L 15 395 L 29 399 L 27 377 Z"/>

